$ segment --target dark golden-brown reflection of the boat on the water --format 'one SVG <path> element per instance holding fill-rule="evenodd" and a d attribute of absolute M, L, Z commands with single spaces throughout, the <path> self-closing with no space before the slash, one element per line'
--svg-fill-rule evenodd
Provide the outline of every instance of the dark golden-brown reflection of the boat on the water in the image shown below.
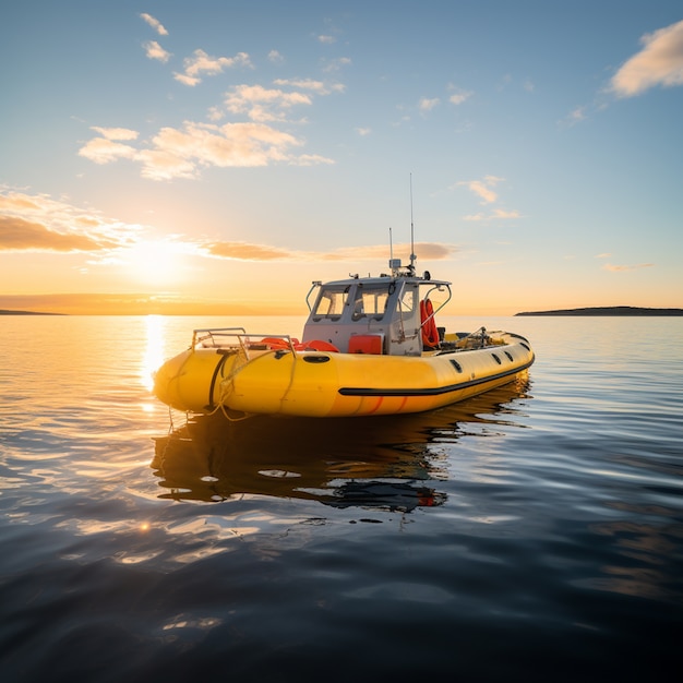
<path fill-rule="evenodd" d="M 505 421 L 526 378 L 423 414 L 372 418 L 192 416 L 155 439 L 161 499 L 219 502 L 242 495 L 313 500 L 334 507 L 410 512 L 441 505 L 448 478 L 439 441 L 467 423 Z M 436 445 L 436 447 L 435 447 Z"/>

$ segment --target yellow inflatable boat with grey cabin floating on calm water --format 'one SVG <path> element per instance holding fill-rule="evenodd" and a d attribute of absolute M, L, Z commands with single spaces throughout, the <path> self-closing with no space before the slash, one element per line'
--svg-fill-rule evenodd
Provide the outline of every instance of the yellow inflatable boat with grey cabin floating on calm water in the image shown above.
<path fill-rule="evenodd" d="M 301 339 L 194 329 L 190 347 L 155 373 L 154 394 L 177 410 L 230 419 L 402 415 L 502 386 L 534 363 L 519 334 L 440 327 L 452 283 L 418 275 L 414 255 L 406 266 L 390 259 L 388 268 L 312 283 Z"/>

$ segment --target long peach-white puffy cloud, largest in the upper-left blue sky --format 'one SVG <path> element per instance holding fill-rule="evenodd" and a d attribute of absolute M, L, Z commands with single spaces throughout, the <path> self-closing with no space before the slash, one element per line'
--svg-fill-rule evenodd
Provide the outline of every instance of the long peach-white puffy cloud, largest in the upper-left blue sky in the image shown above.
<path fill-rule="evenodd" d="M 105 129 L 110 130 L 110 129 Z M 264 123 L 196 123 L 163 128 L 146 146 L 135 147 L 105 136 L 88 141 L 79 154 L 96 164 L 118 159 L 140 163 L 142 176 L 152 180 L 196 178 L 205 167 L 259 167 L 273 164 L 311 166 L 333 164 L 319 155 L 297 156 L 303 142 Z"/>

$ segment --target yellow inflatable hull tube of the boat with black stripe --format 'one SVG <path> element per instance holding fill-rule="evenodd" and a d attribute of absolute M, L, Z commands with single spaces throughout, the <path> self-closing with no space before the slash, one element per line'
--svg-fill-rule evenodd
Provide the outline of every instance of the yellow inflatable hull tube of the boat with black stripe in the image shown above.
<path fill-rule="evenodd" d="M 200 414 L 400 415 L 502 386 L 532 362 L 526 339 L 418 357 L 195 347 L 161 366 L 154 393 L 175 409 Z"/>

